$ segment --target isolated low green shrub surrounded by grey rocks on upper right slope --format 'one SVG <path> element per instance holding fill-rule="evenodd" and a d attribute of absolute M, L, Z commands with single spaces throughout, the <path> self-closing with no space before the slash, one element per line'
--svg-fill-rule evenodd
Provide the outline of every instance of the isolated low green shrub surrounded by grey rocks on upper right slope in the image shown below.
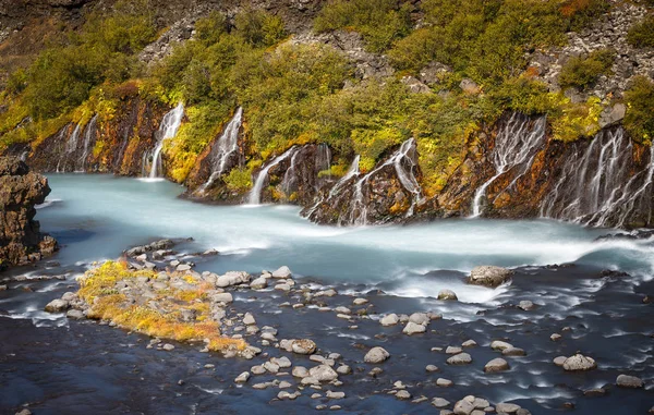
<path fill-rule="evenodd" d="M 601 49 L 586 57 L 570 58 L 559 74 L 559 85 L 562 88 L 578 87 L 585 89 L 594 85 L 600 76 L 607 74 L 616 59 L 613 49 Z"/>

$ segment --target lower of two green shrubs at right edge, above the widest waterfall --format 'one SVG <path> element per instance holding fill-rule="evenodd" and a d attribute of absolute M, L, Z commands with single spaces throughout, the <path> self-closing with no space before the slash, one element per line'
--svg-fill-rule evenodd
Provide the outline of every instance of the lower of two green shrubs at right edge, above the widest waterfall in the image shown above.
<path fill-rule="evenodd" d="M 637 76 L 625 93 L 625 127 L 634 139 L 651 144 L 654 137 L 654 83 Z"/>

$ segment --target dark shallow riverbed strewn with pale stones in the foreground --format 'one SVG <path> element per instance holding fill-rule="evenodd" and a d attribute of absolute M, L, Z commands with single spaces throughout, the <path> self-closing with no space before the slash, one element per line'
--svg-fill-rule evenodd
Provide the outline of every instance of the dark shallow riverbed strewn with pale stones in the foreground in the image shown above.
<path fill-rule="evenodd" d="M 459 278 L 511 294 L 465 304 L 445 300 L 451 295 L 397 297 L 383 284 L 324 285 L 283 266 L 259 274 L 195 271 L 220 254 L 193 254 L 191 241 L 175 242 L 126 251 L 112 263 L 125 273 L 90 303 L 84 288 L 106 276 L 97 270 L 107 265 L 80 277 L 78 292 L 72 281 L 55 290 L 43 307 L 65 330 L 25 330 L 25 320 L 2 319 L 2 335 L 20 333 L 21 341 L 1 346 L 10 393 L 0 407 L 58 413 L 70 402 L 69 413 L 110 413 L 112 402 L 143 413 L 210 413 L 220 405 L 226 413 L 481 415 L 644 414 L 654 404 L 651 305 L 642 294 L 652 282 L 628 292 L 629 276 L 602 269 L 484 267 Z M 44 283 L 10 281 L 10 292 Z M 201 285 L 201 296 L 179 295 Z M 571 295 L 574 286 L 591 290 Z M 116 293 L 125 309 L 216 321 L 223 338 L 247 345 L 216 353 L 202 338 L 144 335 L 143 327 L 94 312 L 96 298 Z M 138 390 L 123 394 L 125 388 Z"/>

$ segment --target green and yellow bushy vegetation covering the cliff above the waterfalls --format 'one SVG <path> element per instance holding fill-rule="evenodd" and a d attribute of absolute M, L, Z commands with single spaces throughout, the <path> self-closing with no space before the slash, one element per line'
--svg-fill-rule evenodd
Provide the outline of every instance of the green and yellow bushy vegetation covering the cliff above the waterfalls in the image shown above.
<path fill-rule="evenodd" d="M 9 110 L 0 114 L 0 148 L 38 143 L 96 112 L 106 115 L 100 122 L 110 119 L 129 90 L 185 103 L 185 122 L 165 147 L 168 174 L 178 182 L 242 106 L 246 166 L 226 178 L 231 190 L 246 191 L 254 169 L 294 144 L 329 144 L 336 156 L 330 173 L 338 175 L 354 154 L 367 171 L 415 137 L 423 187 L 435 194 L 474 133 L 506 111 L 547 114 L 562 141 L 600 130 L 610 98 L 573 100 L 565 89 L 591 89 L 610 73 L 615 52 L 570 59 L 558 77 L 560 91 L 538 80 L 529 56 L 565 45 L 568 32 L 583 29 L 609 7 L 607 0 L 328 1 L 313 22 L 315 33 L 360 33 L 366 50 L 386 53 L 396 70 L 377 78 L 356 74 L 330 45 L 293 39 L 280 17 L 251 8 L 231 20 L 219 12 L 197 20 L 191 40 L 145 66 L 137 52 L 156 37 L 153 11 L 144 2 L 119 2 L 12 74 L 2 95 Z M 631 29 L 632 44 L 649 45 L 646 23 Z M 421 78 L 435 62 L 441 70 L 412 90 L 407 76 Z M 646 142 L 652 117 L 644 96 L 644 81 L 635 82 L 625 95 L 625 123 Z"/>

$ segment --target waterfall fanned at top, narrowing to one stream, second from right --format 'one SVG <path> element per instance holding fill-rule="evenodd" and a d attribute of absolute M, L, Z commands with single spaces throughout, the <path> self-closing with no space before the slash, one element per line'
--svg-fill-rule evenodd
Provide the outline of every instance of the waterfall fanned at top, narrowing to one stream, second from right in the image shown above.
<path fill-rule="evenodd" d="M 511 115 L 495 138 L 495 148 L 492 152 L 495 175 L 476 190 L 472 200 L 472 218 L 480 217 L 483 213 L 482 202 L 486 196 L 486 190 L 500 175 L 514 167 L 522 167 L 520 173 L 508 187 L 500 192 L 501 194 L 529 171 L 537 149 L 545 141 L 546 126 L 545 117 L 540 118 L 532 124 L 532 120 L 526 115 L 517 112 Z"/>

